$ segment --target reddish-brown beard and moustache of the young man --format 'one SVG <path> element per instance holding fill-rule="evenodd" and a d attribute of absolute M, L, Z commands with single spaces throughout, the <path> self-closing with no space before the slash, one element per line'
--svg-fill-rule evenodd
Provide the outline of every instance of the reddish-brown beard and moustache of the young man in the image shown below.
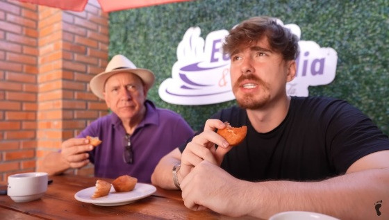
<path fill-rule="evenodd" d="M 239 96 L 239 85 L 244 80 L 254 81 L 260 88 L 261 92 L 256 94 L 243 94 Z M 240 108 L 249 110 L 263 108 L 270 101 L 270 93 L 268 91 L 269 86 L 253 74 L 240 76 L 238 81 L 236 81 L 236 83 L 233 85 L 233 93 L 235 94 L 236 102 Z"/>

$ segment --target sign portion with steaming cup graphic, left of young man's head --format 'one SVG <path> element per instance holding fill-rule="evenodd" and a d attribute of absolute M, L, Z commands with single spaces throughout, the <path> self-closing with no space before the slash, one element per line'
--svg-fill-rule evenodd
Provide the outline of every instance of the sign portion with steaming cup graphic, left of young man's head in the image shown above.
<path fill-rule="evenodd" d="M 186 31 L 177 47 L 172 78 L 159 87 L 160 98 L 179 105 L 206 105 L 235 99 L 231 91 L 229 57 L 223 56 L 226 30 L 200 37 L 200 28 Z"/>

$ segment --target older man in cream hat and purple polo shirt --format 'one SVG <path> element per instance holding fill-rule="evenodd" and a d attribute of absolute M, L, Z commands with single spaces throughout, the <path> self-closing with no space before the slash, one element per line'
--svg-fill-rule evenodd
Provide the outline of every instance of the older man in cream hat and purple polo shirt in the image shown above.
<path fill-rule="evenodd" d="M 156 108 L 147 100 L 154 81 L 150 70 L 137 69 L 122 55 L 114 56 L 106 71 L 90 81 L 92 92 L 104 99 L 112 112 L 63 142 L 60 151 L 47 155 L 41 170 L 60 174 L 92 162 L 97 177 L 128 174 L 150 183 L 160 158 L 193 135 L 180 115 Z M 86 136 L 99 137 L 102 142 L 94 147 Z"/>

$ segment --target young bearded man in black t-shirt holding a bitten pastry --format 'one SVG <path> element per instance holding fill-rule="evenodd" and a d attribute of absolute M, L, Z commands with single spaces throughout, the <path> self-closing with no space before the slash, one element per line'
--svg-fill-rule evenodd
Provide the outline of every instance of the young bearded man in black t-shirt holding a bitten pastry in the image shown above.
<path fill-rule="evenodd" d="M 152 183 L 181 187 L 192 210 L 233 217 L 267 219 L 290 210 L 389 217 L 388 208 L 374 207 L 389 201 L 388 137 L 345 101 L 287 96 L 297 37 L 270 17 L 254 17 L 230 31 L 223 49 L 240 107 L 221 110 L 160 160 Z M 231 147 L 215 133 L 224 121 L 248 127 L 242 144 Z"/>

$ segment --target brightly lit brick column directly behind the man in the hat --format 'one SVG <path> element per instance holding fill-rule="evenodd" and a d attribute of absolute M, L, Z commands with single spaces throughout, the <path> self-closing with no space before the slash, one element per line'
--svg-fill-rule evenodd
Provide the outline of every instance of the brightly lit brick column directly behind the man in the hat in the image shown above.
<path fill-rule="evenodd" d="M 78 135 L 107 112 L 89 91 L 89 81 L 108 60 L 108 15 L 97 1 L 83 12 L 40 7 L 39 10 L 38 166 L 61 142 Z M 78 174 L 93 174 L 93 167 Z"/>

